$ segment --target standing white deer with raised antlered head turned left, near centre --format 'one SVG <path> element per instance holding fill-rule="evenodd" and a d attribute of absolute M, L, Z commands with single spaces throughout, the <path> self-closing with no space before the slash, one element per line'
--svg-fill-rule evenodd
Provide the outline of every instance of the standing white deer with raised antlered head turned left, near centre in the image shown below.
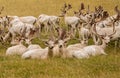
<path fill-rule="evenodd" d="M 76 35 L 76 29 L 79 31 L 80 19 L 76 16 L 67 16 L 68 10 L 72 7 L 70 4 L 64 4 L 63 8 L 61 9 L 60 17 L 64 17 L 65 24 L 68 26 L 68 30 L 72 32 L 73 37 Z"/>

